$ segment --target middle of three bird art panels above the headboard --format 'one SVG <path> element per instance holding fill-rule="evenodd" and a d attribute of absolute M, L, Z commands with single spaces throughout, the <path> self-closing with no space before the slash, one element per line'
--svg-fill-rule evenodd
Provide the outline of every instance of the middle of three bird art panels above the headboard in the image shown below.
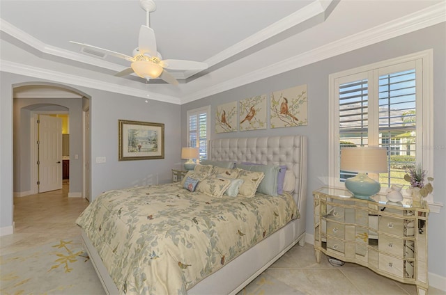
<path fill-rule="evenodd" d="M 257 95 L 240 100 L 238 104 L 240 123 L 238 129 L 266 129 L 266 95 Z"/>

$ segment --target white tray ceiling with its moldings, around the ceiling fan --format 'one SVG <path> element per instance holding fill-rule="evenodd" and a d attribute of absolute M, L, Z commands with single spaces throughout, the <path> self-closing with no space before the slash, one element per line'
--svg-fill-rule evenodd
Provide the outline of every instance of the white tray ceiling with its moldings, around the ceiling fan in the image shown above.
<path fill-rule="evenodd" d="M 163 58 L 206 62 L 180 85 L 114 77 L 130 63 L 69 41 L 132 55 L 146 13 L 138 0 L 0 1 L 1 70 L 182 104 L 445 22 L 445 1 L 155 0 Z M 31 90 L 28 90 L 31 91 Z"/>

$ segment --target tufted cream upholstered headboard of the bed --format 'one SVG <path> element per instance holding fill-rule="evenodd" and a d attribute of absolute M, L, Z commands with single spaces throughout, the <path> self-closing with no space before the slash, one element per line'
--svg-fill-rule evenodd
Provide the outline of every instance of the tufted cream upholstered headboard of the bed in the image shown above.
<path fill-rule="evenodd" d="M 214 161 L 253 162 L 286 165 L 295 175 L 294 200 L 305 220 L 307 206 L 307 137 L 270 136 L 222 138 L 209 143 L 210 159 Z M 302 216 L 303 215 L 303 216 Z"/>

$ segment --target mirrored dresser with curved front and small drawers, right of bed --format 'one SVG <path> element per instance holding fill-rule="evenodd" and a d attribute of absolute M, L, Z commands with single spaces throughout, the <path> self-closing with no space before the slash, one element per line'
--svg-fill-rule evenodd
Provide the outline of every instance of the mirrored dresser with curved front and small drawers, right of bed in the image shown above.
<path fill-rule="evenodd" d="M 353 198 L 346 189 L 322 187 L 314 197 L 314 250 L 344 262 L 366 266 L 387 278 L 429 288 L 427 219 L 422 200 L 390 202 L 385 195 L 370 200 Z"/>

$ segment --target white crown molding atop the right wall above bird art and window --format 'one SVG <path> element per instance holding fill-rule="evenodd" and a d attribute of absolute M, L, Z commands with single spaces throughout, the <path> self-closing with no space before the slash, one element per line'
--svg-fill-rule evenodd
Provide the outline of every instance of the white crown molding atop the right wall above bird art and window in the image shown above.
<path fill-rule="evenodd" d="M 420 10 L 417 13 L 412 13 L 391 22 L 380 24 L 374 28 L 355 33 L 346 38 L 293 56 L 284 61 L 280 61 L 279 63 L 268 65 L 267 67 L 250 72 L 249 74 L 197 91 L 192 95 L 186 95 L 181 99 L 181 104 L 215 95 L 277 74 L 282 74 L 283 72 L 288 72 L 289 70 L 294 70 L 298 67 L 323 61 L 326 58 L 345 54 L 346 52 L 389 40 L 398 37 L 399 35 L 424 29 L 428 26 L 440 24 L 441 22 L 446 22 L 446 6 L 444 3 L 438 3 L 429 8 L 425 8 L 424 10 Z"/>

